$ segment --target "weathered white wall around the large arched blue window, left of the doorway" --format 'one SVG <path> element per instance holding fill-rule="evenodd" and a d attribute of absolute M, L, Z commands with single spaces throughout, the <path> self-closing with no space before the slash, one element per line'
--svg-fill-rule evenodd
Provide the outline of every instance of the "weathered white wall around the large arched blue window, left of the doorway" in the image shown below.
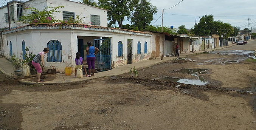
<path fill-rule="evenodd" d="M 30 52 L 37 54 L 47 47 L 50 40 L 59 40 L 62 45 L 62 62 L 47 62 L 47 54 L 45 55 L 45 70 L 56 69 L 58 72 L 64 72 L 65 67 L 74 66 L 74 56 L 72 56 L 71 35 L 72 32 L 67 30 L 26 30 L 6 34 L 5 40 L 8 40 L 8 46 L 5 46 L 5 56 L 10 57 L 9 42 L 12 42 L 12 54 L 22 59 L 22 41 L 25 41 L 26 46 L 30 46 Z M 75 43 L 77 50 L 77 43 Z M 28 53 L 28 52 L 26 52 Z M 75 52 L 76 53 L 76 52 Z"/>

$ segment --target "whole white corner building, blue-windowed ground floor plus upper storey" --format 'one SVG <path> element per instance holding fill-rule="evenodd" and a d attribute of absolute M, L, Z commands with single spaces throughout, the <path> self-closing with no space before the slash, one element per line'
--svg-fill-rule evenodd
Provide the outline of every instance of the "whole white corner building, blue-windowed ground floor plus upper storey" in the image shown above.
<path fill-rule="evenodd" d="M 16 55 L 22 60 L 26 54 L 25 46 L 31 47 L 30 52 L 34 54 L 48 47 L 50 52 L 45 57 L 45 68 L 56 69 L 58 72 L 64 72 L 65 67 L 73 67 L 74 71 L 76 52 L 80 52 L 86 59 L 85 48 L 88 41 L 99 48 L 95 62 L 98 69 L 110 70 L 118 65 L 148 60 L 150 57 L 152 35 L 147 32 L 108 28 L 106 9 L 69 0 L 11 1 L 10 5 L 14 8 L 14 19 L 11 22 L 12 29 L 1 32 L 0 48 L 4 50 L 1 51 L 3 56 Z M 43 23 L 37 26 L 34 24 L 21 26 L 17 23 L 19 5 L 22 5 L 23 14 L 33 13 L 28 12 L 26 7 L 42 10 L 47 6 L 65 5 L 64 8 L 59 9 L 60 13 L 56 13 L 56 19 L 67 20 L 71 16 L 79 15 L 80 18 L 84 17 L 86 24 L 60 26 L 59 23 Z M 7 12 L 6 8 L 6 6 L 0 8 L 2 14 Z M 1 24 L 1 28 L 7 28 L 6 17 L 1 17 L 1 20 L 4 23 Z"/>

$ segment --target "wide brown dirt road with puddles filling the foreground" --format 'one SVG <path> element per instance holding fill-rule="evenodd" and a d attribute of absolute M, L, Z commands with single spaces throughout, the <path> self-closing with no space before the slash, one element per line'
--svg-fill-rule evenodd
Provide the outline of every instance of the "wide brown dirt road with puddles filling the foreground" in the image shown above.
<path fill-rule="evenodd" d="M 255 49 L 249 42 L 175 59 L 136 79 L 22 85 L 0 74 L 0 129 L 255 130 Z"/>

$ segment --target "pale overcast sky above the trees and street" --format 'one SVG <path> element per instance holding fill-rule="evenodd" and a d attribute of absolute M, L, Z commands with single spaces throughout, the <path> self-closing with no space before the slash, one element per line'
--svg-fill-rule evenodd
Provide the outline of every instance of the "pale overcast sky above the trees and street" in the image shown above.
<path fill-rule="evenodd" d="M 79 0 L 71 1 L 78 2 Z M 98 2 L 98 0 L 95 1 Z M 174 28 L 178 28 L 180 25 L 185 25 L 187 29 L 190 29 L 195 24 L 195 16 L 197 16 L 196 23 L 198 23 L 203 15 L 213 14 L 214 20 L 228 22 L 232 26 L 238 26 L 241 29 L 247 28 L 247 19 L 249 18 L 251 19 L 249 20 L 249 23 L 251 23 L 249 28 L 256 28 L 256 0 L 183 0 L 177 6 L 171 8 L 180 1 L 181 0 L 150 0 L 152 5 L 156 6 L 158 9 L 151 24 L 161 25 L 162 11 L 163 9 L 167 9 L 164 10 L 164 26 L 173 25 Z M 123 24 L 127 23 L 130 22 L 123 22 Z"/>

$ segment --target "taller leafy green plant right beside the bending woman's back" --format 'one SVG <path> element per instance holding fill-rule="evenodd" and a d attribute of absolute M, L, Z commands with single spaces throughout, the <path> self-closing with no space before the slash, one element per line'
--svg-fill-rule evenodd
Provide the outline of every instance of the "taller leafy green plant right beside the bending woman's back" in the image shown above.
<path fill-rule="evenodd" d="M 34 57 L 36 56 L 33 53 L 30 53 L 29 51 L 30 47 L 25 48 L 25 51 L 28 51 L 28 54 L 25 54 L 25 60 L 22 61 L 22 64 L 26 64 L 29 66 L 29 70 L 31 74 L 36 74 L 36 68 L 32 65 L 32 60 L 34 59 Z"/>

